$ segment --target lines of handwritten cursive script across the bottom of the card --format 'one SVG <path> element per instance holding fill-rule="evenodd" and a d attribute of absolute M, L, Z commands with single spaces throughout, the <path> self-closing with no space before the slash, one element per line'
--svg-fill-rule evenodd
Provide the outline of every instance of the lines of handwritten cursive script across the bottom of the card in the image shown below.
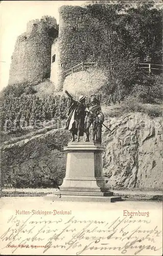
<path fill-rule="evenodd" d="M 89 251 L 96 255 L 104 252 L 142 255 L 145 250 L 146 254 L 158 255 L 161 236 L 161 229 L 151 228 L 149 218 L 118 217 L 102 221 L 75 216 L 12 215 L 1 239 L 2 249 L 10 248 L 14 254 L 22 248 L 26 248 L 27 254 L 30 249 L 37 248 L 46 254 L 55 248 L 56 254 L 60 251 L 64 255 L 68 251 L 76 255 L 87 255 Z"/>

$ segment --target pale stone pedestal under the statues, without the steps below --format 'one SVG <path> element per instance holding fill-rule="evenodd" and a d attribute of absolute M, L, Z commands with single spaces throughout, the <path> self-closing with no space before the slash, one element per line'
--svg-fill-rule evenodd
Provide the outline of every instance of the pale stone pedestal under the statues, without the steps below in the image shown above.
<path fill-rule="evenodd" d="M 60 191 L 105 190 L 102 178 L 103 146 L 91 142 L 72 142 L 64 148 L 67 152 L 66 176 Z"/>

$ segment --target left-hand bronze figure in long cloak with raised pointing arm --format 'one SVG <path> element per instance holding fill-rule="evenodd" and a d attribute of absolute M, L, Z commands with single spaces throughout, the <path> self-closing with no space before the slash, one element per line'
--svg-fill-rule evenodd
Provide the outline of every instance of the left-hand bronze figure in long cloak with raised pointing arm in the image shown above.
<path fill-rule="evenodd" d="M 68 109 L 68 118 L 66 120 L 65 129 L 71 131 L 72 142 L 75 141 L 75 135 L 77 135 L 77 141 L 80 141 L 80 136 L 84 135 L 84 119 L 85 119 L 85 96 L 81 95 L 79 101 L 74 100 L 73 96 L 65 91 L 67 96 L 71 99 L 71 105 Z"/>

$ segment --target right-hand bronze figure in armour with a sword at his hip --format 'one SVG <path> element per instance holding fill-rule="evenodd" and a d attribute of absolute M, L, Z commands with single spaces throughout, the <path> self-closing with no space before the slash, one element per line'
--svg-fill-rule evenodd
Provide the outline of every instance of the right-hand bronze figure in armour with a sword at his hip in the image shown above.
<path fill-rule="evenodd" d="M 102 124 L 104 115 L 101 111 L 100 101 L 95 94 L 90 95 L 91 106 L 86 108 L 87 116 L 85 119 L 86 141 L 89 141 L 89 128 L 92 124 L 92 141 L 101 143 Z"/>

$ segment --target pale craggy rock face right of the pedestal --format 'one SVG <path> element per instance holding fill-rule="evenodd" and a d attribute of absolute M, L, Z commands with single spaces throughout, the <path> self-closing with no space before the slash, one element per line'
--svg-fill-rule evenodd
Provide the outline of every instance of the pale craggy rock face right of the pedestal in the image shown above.
<path fill-rule="evenodd" d="M 109 178 L 108 186 L 162 189 L 161 119 L 135 113 L 108 124 L 112 132 L 103 132 L 103 173 Z"/>

